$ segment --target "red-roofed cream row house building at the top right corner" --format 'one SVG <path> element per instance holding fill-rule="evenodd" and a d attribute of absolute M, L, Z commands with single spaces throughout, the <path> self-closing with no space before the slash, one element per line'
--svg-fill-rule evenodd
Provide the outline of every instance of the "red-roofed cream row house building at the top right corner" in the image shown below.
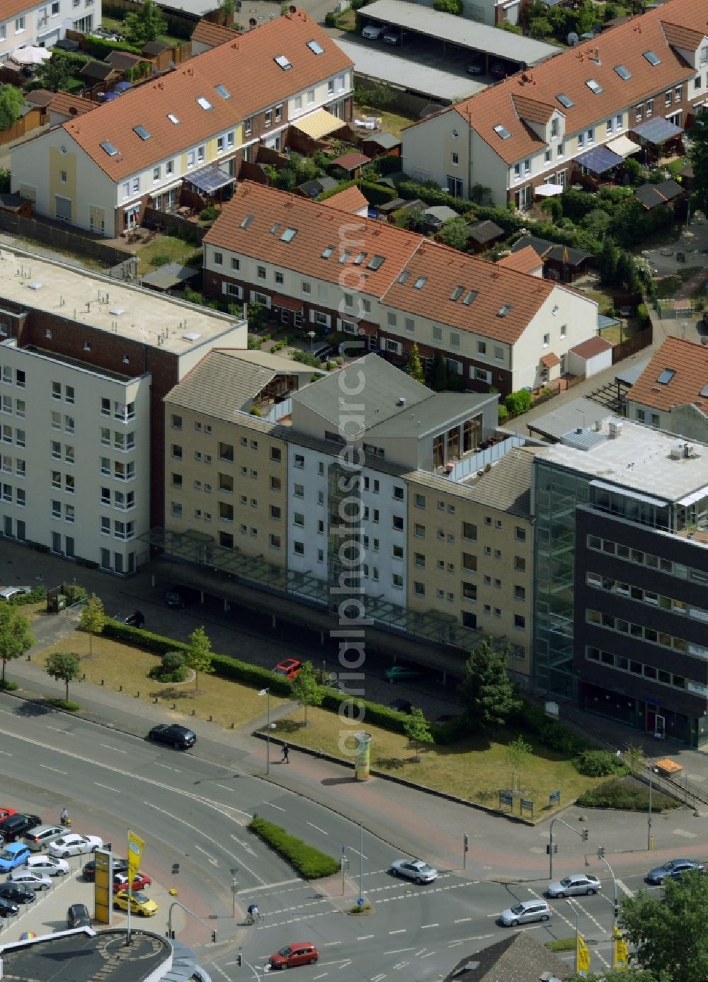
<path fill-rule="evenodd" d="M 404 168 L 526 208 L 539 186 L 570 184 L 588 151 L 610 151 L 584 158 L 603 170 L 688 129 L 707 100 L 705 4 L 670 0 L 408 127 Z"/>

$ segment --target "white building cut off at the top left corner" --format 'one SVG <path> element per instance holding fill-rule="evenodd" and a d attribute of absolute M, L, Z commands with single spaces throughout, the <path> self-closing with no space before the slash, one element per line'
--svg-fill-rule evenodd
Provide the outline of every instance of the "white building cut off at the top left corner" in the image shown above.
<path fill-rule="evenodd" d="M 15 48 L 38 45 L 50 48 L 67 29 L 87 33 L 101 23 L 101 0 L 43 0 L 27 4 L 6 0 L 0 7 L 0 62 Z"/>

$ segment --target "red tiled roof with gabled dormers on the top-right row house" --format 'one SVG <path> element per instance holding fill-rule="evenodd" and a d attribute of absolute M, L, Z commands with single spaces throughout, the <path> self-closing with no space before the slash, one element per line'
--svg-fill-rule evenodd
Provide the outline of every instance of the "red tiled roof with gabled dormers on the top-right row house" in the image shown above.
<path fill-rule="evenodd" d="M 706 13 L 705 0 L 671 0 L 593 41 L 491 85 L 459 102 L 455 109 L 502 160 L 515 163 L 545 145 L 524 124 L 524 113 L 531 122 L 543 122 L 546 107 L 552 106 L 566 117 L 566 133 L 573 134 L 626 106 L 692 79 L 695 71 L 671 45 L 694 49 L 706 32 Z M 595 60 L 596 50 L 599 63 Z M 660 64 L 651 65 L 644 57 L 645 51 L 653 51 Z M 616 66 L 624 66 L 630 78 L 623 81 Z M 602 86 L 597 95 L 587 87 L 586 82 L 591 79 Z M 558 101 L 561 93 L 572 100 L 571 107 Z M 657 105 L 655 111 L 659 110 Z M 416 125 L 424 124 L 423 120 Z M 500 125 L 509 132 L 508 138 L 494 132 L 494 127 Z"/>

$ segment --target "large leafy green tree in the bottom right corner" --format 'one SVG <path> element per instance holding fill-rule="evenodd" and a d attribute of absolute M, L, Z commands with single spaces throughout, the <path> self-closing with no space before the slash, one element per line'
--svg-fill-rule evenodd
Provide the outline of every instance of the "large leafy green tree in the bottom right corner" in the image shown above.
<path fill-rule="evenodd" d="M 640 890 L 623 898 L 619 923 L 634 960 L 657 979 L 708 978 L 708 877 L 688 872 L 664 882 L 664 897 Z"/>

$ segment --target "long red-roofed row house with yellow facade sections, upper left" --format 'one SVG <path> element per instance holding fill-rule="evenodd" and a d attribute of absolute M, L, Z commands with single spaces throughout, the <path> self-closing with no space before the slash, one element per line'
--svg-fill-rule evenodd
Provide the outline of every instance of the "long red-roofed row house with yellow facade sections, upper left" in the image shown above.
<path fill-rule="evenodd" d="M 228 185 L 313 113 L 336 129 L 351 95 L 351 60 L 304 12 L 285 14 L 18 144 L 12 188 L 42 215 L 118 236 L 146 205 L 174 207 L 183 182 Z"/>

